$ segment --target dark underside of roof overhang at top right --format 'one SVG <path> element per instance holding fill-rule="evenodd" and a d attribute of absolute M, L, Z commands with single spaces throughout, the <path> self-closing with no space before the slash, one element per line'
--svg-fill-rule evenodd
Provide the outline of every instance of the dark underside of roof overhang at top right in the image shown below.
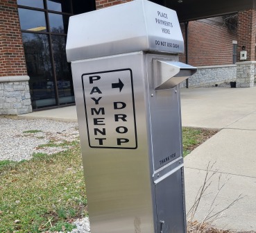
<path fill-rule="evenodd" d="M 176 10 L 180 22 L 256 8 L 256 0 L 155 0 L 154 2 Z"/>

